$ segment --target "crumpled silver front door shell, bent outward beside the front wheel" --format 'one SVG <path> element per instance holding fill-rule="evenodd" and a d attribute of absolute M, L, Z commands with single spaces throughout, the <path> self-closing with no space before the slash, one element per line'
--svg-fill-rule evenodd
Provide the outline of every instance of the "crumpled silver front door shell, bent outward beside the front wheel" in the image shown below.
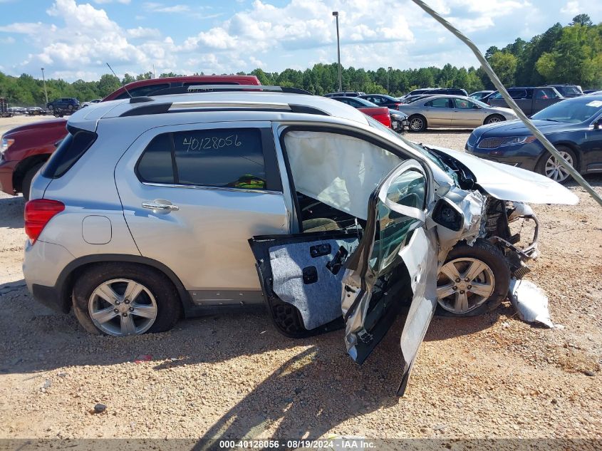
<path fill-rule="evenodd" d="M 370 197 L 363 239 L 343 276 L 343 319 L 349 355 L 363 363 L 404 304 L 401 335 L 403 395 L 437 303 L 437 241 L 427 230 L 428 182 L 415 160 L 399 165 Z"/>

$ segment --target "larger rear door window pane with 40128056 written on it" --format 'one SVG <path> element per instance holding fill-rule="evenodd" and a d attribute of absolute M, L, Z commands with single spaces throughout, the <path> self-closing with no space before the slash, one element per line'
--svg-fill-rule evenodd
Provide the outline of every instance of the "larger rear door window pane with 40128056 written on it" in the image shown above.
<path fill-rule="evenodd" d="M 177 182 L 265 190 L 261 133 L 253 128 L 173 133 Z"/>

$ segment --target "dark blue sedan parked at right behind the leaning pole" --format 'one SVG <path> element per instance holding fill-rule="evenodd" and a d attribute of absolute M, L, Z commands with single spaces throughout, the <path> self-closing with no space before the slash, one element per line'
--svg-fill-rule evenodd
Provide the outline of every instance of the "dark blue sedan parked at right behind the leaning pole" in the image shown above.
<path fill-rule="evenodd" d="M 602 95 L 563 100 L 531 119 L 581 174 L 602 172 Z M 569 179 L 569 173 L 520 120 L 474 129 L 466 151 L 486 160 L 539 172 L 556 182 Z"/>

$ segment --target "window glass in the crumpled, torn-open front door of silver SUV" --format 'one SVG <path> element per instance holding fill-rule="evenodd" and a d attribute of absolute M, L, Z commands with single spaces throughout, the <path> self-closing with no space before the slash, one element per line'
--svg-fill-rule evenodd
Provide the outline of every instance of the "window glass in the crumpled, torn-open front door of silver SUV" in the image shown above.
<path fill-rule="evenodd" d="M 422 172 L 407 170 L 391 183 L 387 199 L 398 205 L 424 209 L 426 180 Z M 378 202 L 377 232 L 370 266 L 380 271 L 395 260 L 398 249 L 410 237 L 417 219 L 394 212 L 383 202 Z"/>

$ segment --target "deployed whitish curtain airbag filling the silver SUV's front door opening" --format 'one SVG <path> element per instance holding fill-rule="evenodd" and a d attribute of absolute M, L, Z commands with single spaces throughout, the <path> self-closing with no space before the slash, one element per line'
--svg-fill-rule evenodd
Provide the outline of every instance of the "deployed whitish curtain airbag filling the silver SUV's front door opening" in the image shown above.
<path fill-rule="evenodd" d="M 366 219 L 368 199 L 403 160 L 370 142 L 338 133 L 284 135 L 297 191 Z"/>

